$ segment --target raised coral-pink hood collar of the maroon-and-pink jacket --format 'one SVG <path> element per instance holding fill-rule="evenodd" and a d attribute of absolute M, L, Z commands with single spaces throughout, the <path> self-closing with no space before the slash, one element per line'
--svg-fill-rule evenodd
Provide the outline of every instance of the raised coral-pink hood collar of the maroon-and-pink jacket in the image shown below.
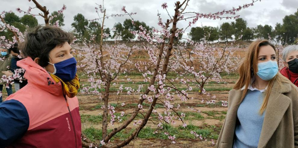
<path fill-rule="evenodd" d="M 32 58 L 27 57 L 17 61 L 17 66 L 26 70 L 24 77 L 28 80 L 29 84 L 33 84 L 56 96 L 63 94 L 61 82 L 56 83 L 50 74 L 36 64 Z"/>

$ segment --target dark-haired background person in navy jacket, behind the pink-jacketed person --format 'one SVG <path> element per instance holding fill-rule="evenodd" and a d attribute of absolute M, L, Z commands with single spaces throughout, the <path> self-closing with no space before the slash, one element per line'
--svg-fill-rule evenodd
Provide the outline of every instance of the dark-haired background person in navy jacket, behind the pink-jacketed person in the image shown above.
<path fill-rule="evenodd" d="M 19 58 L 18 55 L 20 55 L 20 50 L 17 48 L 18 44 L 15 43 L 12 45 L 9 49 L 8 52 L 11 53 L 13 58 L 11 58 L 11 65 L 10 65 L 10 71 L 4 71 L 3 73 L 6 76 L 12 76 L 15 74 L 16 69 L 20 69 L 20 67 L 17 66 L 17 61 L 22 60 L 22 58 Z M 20 73 L 20 76 L 24 76 L 24 73 Z M 14 80 L 14 88 L 16 91 L 20 90 L 27 84 L 27 80 L 23 79 L 22 82 L 20 80 Z"/>

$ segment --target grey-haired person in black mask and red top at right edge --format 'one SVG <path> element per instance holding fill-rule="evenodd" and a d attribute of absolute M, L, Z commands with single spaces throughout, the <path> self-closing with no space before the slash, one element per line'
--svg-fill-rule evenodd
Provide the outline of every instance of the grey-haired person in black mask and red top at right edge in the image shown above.
<path fill-rule="evenodd" d="M 298 45 L 290 45 L 282 51 L 285 67 L 281 74 L 298 87 Z"/>

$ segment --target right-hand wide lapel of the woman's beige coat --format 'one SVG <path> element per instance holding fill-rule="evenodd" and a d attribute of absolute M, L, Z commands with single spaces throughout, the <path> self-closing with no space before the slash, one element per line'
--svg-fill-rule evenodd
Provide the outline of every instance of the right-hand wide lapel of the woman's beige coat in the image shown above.
<path fill-rule="evenodd" d="M 291 91 L 290 84 L 275 82 L 269 96 L 258 147 L 265 147 L 278 127 L 291 100 L 283 93 Z"/>

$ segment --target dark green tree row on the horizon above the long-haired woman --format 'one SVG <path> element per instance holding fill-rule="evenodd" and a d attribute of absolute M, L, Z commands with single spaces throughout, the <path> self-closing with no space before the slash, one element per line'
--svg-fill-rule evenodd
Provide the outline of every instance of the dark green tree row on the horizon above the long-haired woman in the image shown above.
<path fill-rule="evenodd" d="M 283 24 L 275 24 L 275 28 L 270 25 L 258 25 L 257 27 L 247 27 L 247 21 L 243 18 L 237 18 L 235 22 L 223 23 L 219 27 L 192 27 L 189 37 L 193 41 L 202 41 L 205 36 L 206 40 L 215 41 L 239 38 L 242 40 L 252 39 L 274 39 L 277 43 L 293 44 L 298 42 L 298 9 L 297 12 L 287 15 L 283 19 Z"/>

